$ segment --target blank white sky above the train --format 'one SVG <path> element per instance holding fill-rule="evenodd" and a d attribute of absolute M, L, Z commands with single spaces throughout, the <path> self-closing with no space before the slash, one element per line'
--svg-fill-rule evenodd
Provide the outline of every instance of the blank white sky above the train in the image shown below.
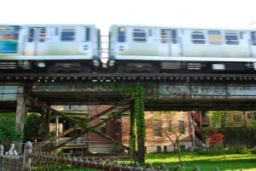
<path fill-rule="evenodd" d="M 0 24 L 256 29 L 256 0 L 1 0 Z"/>

